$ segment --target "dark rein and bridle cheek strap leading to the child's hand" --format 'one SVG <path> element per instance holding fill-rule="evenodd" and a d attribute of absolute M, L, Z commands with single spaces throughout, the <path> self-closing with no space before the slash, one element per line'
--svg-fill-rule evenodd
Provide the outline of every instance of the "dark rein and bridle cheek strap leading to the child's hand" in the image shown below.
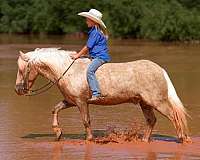
<path fill-rule="evenodd" d="M 26 84 L 25 90 L 28 91 L 29 93 L 25 94 L 25 96 L 36 96 L 36 95 L 39 95 L 41 93 L 48 91 L 51 87 L 53 87 L 55 84 L 57 84 L 63 78 L 63 76 L 71 68 L 71 66 L 74 64 L 74 62 L 75 62 L 75 60 L 72 61 L 72 63 L 68 66 L 68 68 L 63 72 L 63 74 L 55 82 L 49 81 L 47 84 L 45 84 L 42 87 L 35 89 L 35 90 L 29 90 L 29 88 L 27 88 L 28 81 L 29 81 L 28 80 L 29 73 L 30 73 L 30 69 L 31 69 L 30 64 L 28 63 L 27 70 L 25 73 L 25 84 Z"/>

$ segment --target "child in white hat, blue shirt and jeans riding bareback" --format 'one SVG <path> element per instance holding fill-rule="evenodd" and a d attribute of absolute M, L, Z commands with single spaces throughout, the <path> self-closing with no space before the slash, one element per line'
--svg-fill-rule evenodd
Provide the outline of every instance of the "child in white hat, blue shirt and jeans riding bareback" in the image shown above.
<path fill-rule="evenodd" d="M 86 23 L 90 30 L 88 32 L 86 45 L 80 52 L 73 55 L 72 58 L 77 59 L 89 53 L 92 59 L 87 69 L 87 81 L 92 91 L 92 97 L 88 100 L 88 103 L 93 103 L 101 99 L 101 92 L 95 72 L 101 65 L 111 60 L 107 47 L 107 30 L 105 24 L 101 20 L 102 13 L 98 10 L 90 9 L 89 12 L 81 12 L 78 15 L 86 17 Z"/>

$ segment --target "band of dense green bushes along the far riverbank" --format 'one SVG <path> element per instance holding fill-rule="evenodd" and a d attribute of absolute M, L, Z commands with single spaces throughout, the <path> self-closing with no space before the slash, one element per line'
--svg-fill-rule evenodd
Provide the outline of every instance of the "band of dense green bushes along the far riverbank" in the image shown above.
<path fill-rule="evenodd" d="M 199 0 L 1 0 L 0 32 L 85 32 L 77 13 L 90 8 L 103 13 L 113 37 L 200 40 Z"/>

